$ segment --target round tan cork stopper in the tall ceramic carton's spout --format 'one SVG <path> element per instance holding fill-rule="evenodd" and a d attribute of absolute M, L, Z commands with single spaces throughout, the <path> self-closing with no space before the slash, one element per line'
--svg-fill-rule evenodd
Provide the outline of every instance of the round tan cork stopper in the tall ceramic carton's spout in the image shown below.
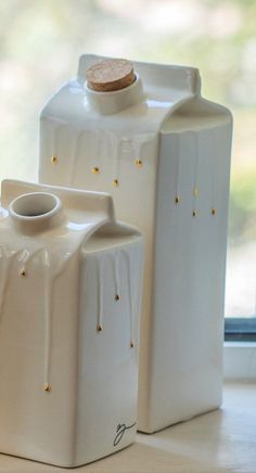
<path fill-rule="evenodd" d="M 87 86 L 98 92 L 125 89 L 136 80 L 133 64 L 123 59 L 101 61 L 87 71 Z"/>

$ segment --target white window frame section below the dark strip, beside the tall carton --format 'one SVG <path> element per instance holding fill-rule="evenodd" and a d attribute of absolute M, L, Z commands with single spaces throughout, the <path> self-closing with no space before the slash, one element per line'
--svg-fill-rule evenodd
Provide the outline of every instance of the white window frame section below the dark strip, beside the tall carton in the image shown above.
<path fill-rule="evenodd" d="M 256 342 L 225 342 L 226 381 L 256 381 Z"/>

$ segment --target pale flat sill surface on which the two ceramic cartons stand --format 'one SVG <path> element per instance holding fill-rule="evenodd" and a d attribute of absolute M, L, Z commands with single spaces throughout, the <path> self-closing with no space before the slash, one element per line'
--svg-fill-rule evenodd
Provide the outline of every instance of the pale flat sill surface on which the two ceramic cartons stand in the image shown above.
<path fill-rule="evenodd" d="M 223 406 L 154 435 L 138 434 L 129 448 L 77 469 L 79 473 L 255 472 L 256 383 L 227 383 Z M 0 455 L 1 473 L 63 473 Z M 76 471 L 66 470 L 65 471 Z"/>

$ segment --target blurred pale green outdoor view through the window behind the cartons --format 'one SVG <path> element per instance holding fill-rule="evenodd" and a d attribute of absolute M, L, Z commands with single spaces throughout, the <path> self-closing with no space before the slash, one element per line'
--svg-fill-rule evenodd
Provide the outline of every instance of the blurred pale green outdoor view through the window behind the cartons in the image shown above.
<path fill-rule="evenodd" d="M 234 116 L 226 315 L 256 305 L 255 0 L 0 0 L 0 178 L 37 179 L 38 115 L 94 52 L 200 68 Z"/>

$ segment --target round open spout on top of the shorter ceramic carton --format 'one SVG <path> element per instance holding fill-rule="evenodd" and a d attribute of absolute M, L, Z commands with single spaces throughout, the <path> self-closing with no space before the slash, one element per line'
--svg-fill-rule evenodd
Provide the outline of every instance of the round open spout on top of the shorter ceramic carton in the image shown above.
<path fill-rule="evenodd" d="M 14 199 L 9 206 L 10 217 L 23 233 L 35 233 L 60 225 L 61 200 L 48 192 L 29 192 Z"/>

